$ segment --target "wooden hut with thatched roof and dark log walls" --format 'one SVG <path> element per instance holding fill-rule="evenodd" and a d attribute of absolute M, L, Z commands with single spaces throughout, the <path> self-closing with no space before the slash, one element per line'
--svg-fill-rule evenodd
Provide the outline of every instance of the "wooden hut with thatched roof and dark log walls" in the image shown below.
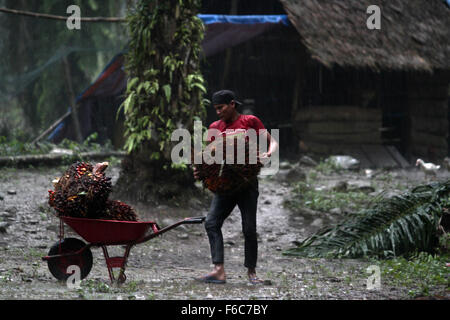
<path fill-rule="evenodd" d="M 295 117 L 311 151 L 384 145 L 408 159 L 447 156 L 450 10 L 443 1 L 377 1 L 380 29 L 367 27 L 370 0 L 281 2 L 319 64 L 312 68 L 320 99 Z"/>

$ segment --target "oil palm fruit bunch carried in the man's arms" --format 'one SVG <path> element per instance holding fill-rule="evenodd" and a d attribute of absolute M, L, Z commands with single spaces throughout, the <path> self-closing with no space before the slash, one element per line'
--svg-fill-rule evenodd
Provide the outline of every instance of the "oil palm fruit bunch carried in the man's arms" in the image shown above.
<path fill-rule="evenodd" d="M 256 157 L 257 150 L 256 142 L 245 132 L 215 139 L 202 151 L 202 163 L 196 165 L 203 186 L 214 193 L 230 194 L 256 184 L 263 166 Z"/>

